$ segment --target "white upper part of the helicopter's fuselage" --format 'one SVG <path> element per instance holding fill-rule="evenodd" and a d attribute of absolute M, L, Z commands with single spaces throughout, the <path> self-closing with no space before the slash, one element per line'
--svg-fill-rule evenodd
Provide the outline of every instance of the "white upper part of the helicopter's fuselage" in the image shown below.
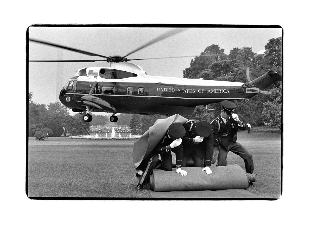
<path fill-rule="evenodd" d="M 135 77 L 128 77 L 124 79 L 104 79 L 100 76 L 95 78 L 94 76 L 89 76 L 89 70 L 99 70 L 101 68 L 105 69 L 117 69 L 126 72 L 132 72 L 137 74 Z M 82 68 L 84 69 L 84 68 Z M 81 69 L 78 70 L 78 72 Z M 77 72 L 76 76 L 79 75 Z M 88 78 L 94 78 L 97 81 L 122 81 L 130 83 L 160 83 L 160 84 L 176 84 L 176 85 L 207 85 L 207 86 L 241 86 L 242 82 L 230 82 L 230 81 L 213 81 L 213 80 L 202 80 L 202 79 L 188 79 L 188 78 L 177 78 L 177 77 L 167 77 L 167 76 L 150 76 L 147 75 L 143 68 L 139 65 L 129 62 L 111 63 L 110 67 L 89 67 L 86 68 L 86 74 Z M 84 77 L 84 76 L 81 76 Z M 85 78 L 85 77 L 84 77 Z M 80 78 L 82 79 L 82 78 Z"/>

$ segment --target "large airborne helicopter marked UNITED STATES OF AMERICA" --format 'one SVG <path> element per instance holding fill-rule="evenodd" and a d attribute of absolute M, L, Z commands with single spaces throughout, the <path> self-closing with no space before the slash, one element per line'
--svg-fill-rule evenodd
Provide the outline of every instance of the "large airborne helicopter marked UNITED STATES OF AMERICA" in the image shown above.
<path fill-rule="evenodd" d="M 196 106 L 219 103 L 223 100 L 251 98 L 281 76 L 269 67 L 267 72 L 248 82 L 213 81 L 200 79 L 150 76 L 141 66 L 129 63 L 127 57 L 138 50 L 181 32 L 171 30 L 125 56 L 104 56 L 68 46 L 29 39 L 39 44 L 71 50 L 85 55 L 98 56 L 98 60 L 29 60 L 29 62 L 100 62 L 110 67 L 84 67 L 78 69 L 60 91 L 60 102 L 73 112 L 83 113 L 83 120 L 92 120 L 91 112 L 111 112 L 111 122 L 117 122 L 117 113 L 170 116 L 192 114 Z M 211 55 L 200 55 L 211 56 Z M 186 56 L 190 57 L 190 56 Z M 168 57 L 173 58 L 173 57 Z"/>

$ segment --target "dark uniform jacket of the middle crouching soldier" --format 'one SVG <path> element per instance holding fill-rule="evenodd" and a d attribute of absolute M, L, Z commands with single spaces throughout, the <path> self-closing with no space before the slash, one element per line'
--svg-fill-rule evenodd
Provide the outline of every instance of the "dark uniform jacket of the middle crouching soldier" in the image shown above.
<path fill-rule="evenodd" d="M 196 121 L 192 124 L 193 121 Z M 198 136 L 195 126 L 199 120 L 193 120 L 184 125 L 185 136 L 182 139 L 184 151 L 186 155 L 191 151 L 191 147 L 197 152 L 201 159 L 204 159 L 204 164 L 211 166 L 212 155 L 213 155 L 213 133 L 208 137 L 205 137 L 202 142 L 194 142 L 194 138 Z M 193 125 L 193 126 L 192 126 Z M 191 127 L 192 126 L 192 127 Z"/>

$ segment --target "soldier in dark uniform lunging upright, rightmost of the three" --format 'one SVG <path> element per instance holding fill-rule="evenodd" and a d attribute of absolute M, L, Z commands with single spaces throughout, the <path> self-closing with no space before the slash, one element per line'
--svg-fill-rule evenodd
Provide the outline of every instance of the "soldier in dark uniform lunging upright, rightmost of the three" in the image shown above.
<path fill-rule="evenodd" d="M 244 146 L 237 142 L 238 129 L 245 130 L 247 126 L 233 112 L 237 108 L 236 104 L 224 100 L 221 102 L 221 105 L 221 114 L 211 122 L 212 129 L 214 130 L 214 145 L 218 145 L 216 140 L 219 142 L 217 166 L 226 166 L 228 151 L 232 151 L 244 160 L 246 172 L 253 173 L 254 164 L 252 155 Z"/>

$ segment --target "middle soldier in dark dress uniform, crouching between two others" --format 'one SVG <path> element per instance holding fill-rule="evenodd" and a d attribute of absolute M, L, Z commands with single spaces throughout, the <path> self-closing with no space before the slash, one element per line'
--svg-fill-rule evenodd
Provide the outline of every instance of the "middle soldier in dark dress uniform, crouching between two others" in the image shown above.
<path fill-rule="evenodd" d="M 210 166 L 213 155 L 213 129 L 206 120 L 188 120 L 184 124 L 182 167 L 186 167 L 191 156 L 195 167 L 204 167 L 202 171 L 212 173 Z"/>

